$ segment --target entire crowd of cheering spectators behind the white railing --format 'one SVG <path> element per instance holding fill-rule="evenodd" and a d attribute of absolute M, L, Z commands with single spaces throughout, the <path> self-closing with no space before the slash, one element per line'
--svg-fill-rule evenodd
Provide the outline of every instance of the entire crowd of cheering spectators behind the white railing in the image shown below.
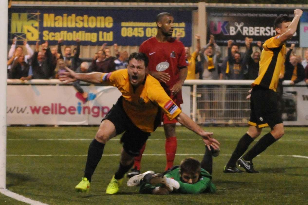
<path fill-rule="evenodd" d="M 181 33 L 177 33 L 176 39 L 180 41 Z M 262 42 L 253 44 L 252 38 L 245 38 L 245 52 L 239 52 L 240 46 L 228 41 L 227 55 L 222 56 L 221 48 L 215 42 L 213 35 L 209 42 L 201 48 L 200 36 L 196 35 L 196 50 L 191 54 L 190 48 L 185 47 L 188 59 L 188 75 L 186 79 L 232 79 L 253 80 L 257 78 L 259 60 L 263 49 Z M 76 47 L 71 50 L 65 46 L 62 53 L 63 39 L 58 41 L 58 46 L 49 47 L 48 42 L 41 45 L 37 42 L 33 51 L 24 41 L 23 46 L 18 46 L 17 39 L 12 40 L 12 46 L 8 53 L 7 73 L 11 79 L 50 79 L 58 78 L 66 67 L 77 72 L 112 72 L 124 69 L 127 66 L 129 53 L 126 50 L 118 50 L 114 44 L 114 56 L 111 56 L 110 48 L 104 43 L 95 53 L 91 62 L 83 62 L 80 56 L 80 40 L 76 39 Z M 253 46 L 257 49 L 253 52 Z M 26 52 L 24 52 L 26 50 Z M 260 51 L 259 51 L 260 50 Z M 305 81 L 308 84 L 308 49 L 304 59 L 295 55 L 295 46 L 292 44 L 286 55 L 285 72 L 281 74 L 281 80 L 290 80 L 290 84 Z M 26 53 L 26 54 L 24 54 Z M 198 56 L 200 57 L 198 58 Z M 83 66 L 81 66 L 83 65 Z M 76 83 L 79 85 L 79 82 Z M 77 86 L 80 91 L 81 87 Z M 79 92 L 80 96 L 85 96 Z"/>

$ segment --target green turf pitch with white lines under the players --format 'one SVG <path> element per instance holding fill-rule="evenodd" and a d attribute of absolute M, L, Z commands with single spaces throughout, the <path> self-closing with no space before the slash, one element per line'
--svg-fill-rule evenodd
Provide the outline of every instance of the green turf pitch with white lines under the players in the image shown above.
<path fill-rule="evenodd" d="M 282 140 L 254 159 L 255 169 L 260 171 L 259 174 L 222 172 L 237 140 L 246 132 L 247 127 L 206 127 L 206 130 L 214 132 L 214 137 L 221 143 L 220 156 L 213 161 L 213 182 L 217 186 L 215 194 L 140 195 L 138 187 L 123 186 L 119 194 L 106 195 L 105 190 L 118 167 L 119 156 L 103 156 L 92 177 L 90 192 L 77 193 L 74 187 L 83 176 L 86 156 L 10 156 L 86 155 L 97 129 L 98 127 L 8 127 L 7 189 L 30 199 L 57 205 L 307 203 L 308 159 L 277 156 L 308 156 L 307 127 L 286 127 Z M 204 145 L 200 137 L 186 128 L 176 129 L 179 139 L 177 153 L 191 154 L 201 160 Z M 262 134 L 268 131 L 265 128 Z M 150 139 L 144 154 L 163 155 L 143 156 L 142 171 L 162 172 L 165 167 L 163 129 L 158 128 Z M 292 141 L 293 139 L 302 141 Z M 120 149 L 119 141 L 111 140 L 107 143 L 104 154 L 119 154 Z M 185 157 L 188 156 L 177 155 L 175 164 Z M 0 204 L 24 203 L 0 194 Z"/>

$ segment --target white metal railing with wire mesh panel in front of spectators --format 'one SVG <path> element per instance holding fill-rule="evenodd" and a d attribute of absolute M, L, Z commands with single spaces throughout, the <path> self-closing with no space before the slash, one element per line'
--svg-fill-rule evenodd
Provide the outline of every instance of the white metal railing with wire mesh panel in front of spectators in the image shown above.
<path fill-rule="evenodd" d="M 190 100 L 192 119 L 198 124 L 247 124 L 250 115 L 250 101 L 246 99 L 253 80 L 185 80 L 184 86 L 191 87 Z M 58 79 L 33 79 L 21 81 L 7 79 L 9 85 L 61 85 Z M 83 85 L 89 83 L 81 82 Z M 284 81 L 283 85 L 289 85 Z M 304 82 L 300 83 L 305 85 Z"/>

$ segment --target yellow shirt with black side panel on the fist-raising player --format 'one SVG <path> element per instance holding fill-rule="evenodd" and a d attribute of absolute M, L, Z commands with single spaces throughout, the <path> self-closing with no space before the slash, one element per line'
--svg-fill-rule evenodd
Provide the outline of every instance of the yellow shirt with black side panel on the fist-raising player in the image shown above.
<path fill-rule="evenodd" d="M 274 36 L 264 42 L 259 62 L 259 75 L 252 86 L 259 85 L 276 91 L 286 55 L 286 45 L 282 45 L 279 38 L 280 35 Z"/>

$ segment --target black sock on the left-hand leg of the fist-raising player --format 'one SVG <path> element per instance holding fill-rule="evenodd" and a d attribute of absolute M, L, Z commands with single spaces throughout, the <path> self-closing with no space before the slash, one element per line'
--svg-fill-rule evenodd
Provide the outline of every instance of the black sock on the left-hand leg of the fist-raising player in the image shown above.
<path fill-rule="evenodd" d="M 236 161 L 244 154 L 253 140 L 253 138 L 245 133 L 245 135 L 243 135 L 242 138 L 238 141 L 237 146 L 233 151 L 229 162 L 227 163 L 227 166 L 235 167 Z"/>

